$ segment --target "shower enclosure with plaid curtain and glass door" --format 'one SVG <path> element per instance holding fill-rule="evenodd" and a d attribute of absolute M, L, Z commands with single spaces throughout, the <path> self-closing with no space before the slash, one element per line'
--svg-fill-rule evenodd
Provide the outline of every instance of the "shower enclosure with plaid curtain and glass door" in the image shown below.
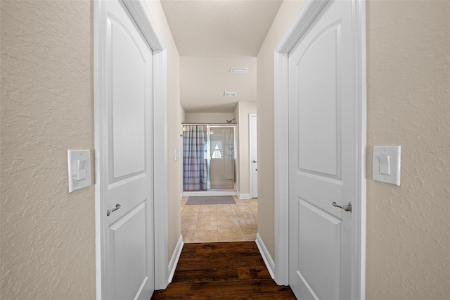
<path fill-rule="evenodd" d="M 235 125 L 183 124 L 184 192 L 236 191 Z"/>

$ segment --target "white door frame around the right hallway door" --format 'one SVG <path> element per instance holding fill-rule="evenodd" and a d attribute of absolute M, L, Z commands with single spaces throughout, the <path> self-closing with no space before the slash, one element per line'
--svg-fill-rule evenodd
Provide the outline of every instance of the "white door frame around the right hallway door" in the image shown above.
<path fill-rule="evenodd" d="M 274 53 L 275 68 L 275 280 L 288 285 L 288 232 L 289 232 L 289 141 L 288 141 L 288 56 L 304 32 L 330 0 L 305 0 L 295 15 Z M 365 299 L 366 294 L 366 2 L 352 0 L 352 57 L 356 66 L 352 72 L 358 84 L 353 91 L 356 113 L 354 123 L 358 132 L 354 149 L 358 185 L 352 199 L 352 299 Z"/>

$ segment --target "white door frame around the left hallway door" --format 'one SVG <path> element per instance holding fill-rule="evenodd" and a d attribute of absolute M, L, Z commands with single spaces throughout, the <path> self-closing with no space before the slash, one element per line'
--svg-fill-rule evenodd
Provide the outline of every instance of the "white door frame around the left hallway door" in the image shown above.
<path fill-rule="evenodd" d="M 106 14 L 105 1 L 94 1 L 94 147 L 96 193 L 96 298 L 104 294 L 105 218 L 106 207 L 101 190 L 103 168 L 99 156 L 101 141 L 107 132 L 101 131 L 101 107 L 105 105 L 107 74 L 105 72 Z M 153 50 L 153 199 L 155 237 L 155 289 L 168 285 L 167 227 L 167 49 L 144 0 L 121 0 Z"/>

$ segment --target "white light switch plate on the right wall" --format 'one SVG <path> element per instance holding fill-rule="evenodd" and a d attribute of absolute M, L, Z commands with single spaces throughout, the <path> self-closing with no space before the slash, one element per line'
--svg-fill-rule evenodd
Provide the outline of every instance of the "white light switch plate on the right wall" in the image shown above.
<path fill-rule="evenodd" d="M 373 180 L 400 186 L 401 146 L 373 147 Z"/>

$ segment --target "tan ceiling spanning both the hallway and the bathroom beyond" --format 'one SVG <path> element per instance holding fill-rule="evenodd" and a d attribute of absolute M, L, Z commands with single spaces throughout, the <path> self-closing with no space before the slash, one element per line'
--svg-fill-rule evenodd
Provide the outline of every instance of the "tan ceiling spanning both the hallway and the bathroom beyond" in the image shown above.
<path fill-rule="evenodd" d="M 256 101 L 256 59 L 282 0 L 161 0 L 181 56 L 186 112 L 232 112 Z M 249 68 L 230 74 L 231 67 Z M 237 92 L 236 98 L 224 92 Z"/>

